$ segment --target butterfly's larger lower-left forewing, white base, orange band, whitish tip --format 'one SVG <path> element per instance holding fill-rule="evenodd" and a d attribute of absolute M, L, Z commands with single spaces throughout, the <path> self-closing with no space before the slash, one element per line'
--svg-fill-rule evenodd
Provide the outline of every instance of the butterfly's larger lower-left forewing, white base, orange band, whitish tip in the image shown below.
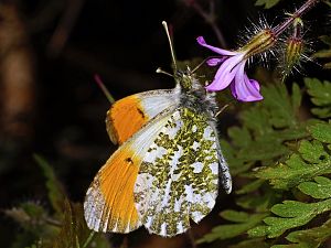
<path fill-rule="evenodd" d="M 141 225 L 134 186 L 140 164 L 173 112 L 167 108 L 128 139 L 99 170 L 84 203 L 87 226 L 96 231 L 128 233 Z"/>

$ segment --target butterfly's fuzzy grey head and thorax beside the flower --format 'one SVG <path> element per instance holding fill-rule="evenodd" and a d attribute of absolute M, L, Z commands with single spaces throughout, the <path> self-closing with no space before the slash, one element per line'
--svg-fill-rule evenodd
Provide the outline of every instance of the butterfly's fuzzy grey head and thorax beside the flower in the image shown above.
<path fill-rule="evenodd" d="M 207 120 L 215 120 L 218 110 L 215 94 L 209 93 L 194 74 L 178 72 L 177 82 L 181 90 L 180 106 L 204 116 Z"/>

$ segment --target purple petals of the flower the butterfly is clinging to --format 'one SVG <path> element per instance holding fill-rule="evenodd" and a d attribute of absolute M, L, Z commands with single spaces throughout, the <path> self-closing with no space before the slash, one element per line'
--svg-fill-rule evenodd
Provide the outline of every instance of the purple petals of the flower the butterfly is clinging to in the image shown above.
<path fill-rule="evenodd" d="M 242 101 L 261 100 L 259 94 L 259 85 L 257 80 L 249 79 L 245 73 L 245 64 L 247 62 L 247 51 L 227 51 L 205 43 L 202 36 L 196 39 L 197 43 L 213 52 L 221 54 L 221 58 L 211 58 L 207 65 L 217 66 L 221 64 L 214 80 L 206 86 L 210 91 L 217 91 L 229 86 L 232 95 Z"/>

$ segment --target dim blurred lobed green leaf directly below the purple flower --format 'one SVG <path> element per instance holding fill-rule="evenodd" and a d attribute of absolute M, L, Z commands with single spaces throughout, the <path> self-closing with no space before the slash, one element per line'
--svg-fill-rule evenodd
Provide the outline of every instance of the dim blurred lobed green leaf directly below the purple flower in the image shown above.
<path fill-rule="evenodd" d="M 265 164 L 276 161 L 290 152 L 284 141 L 308 136 L 307 123 L 296 119 L 301 101 L 297 86 L 293 86 L 293 97 L 284 85 L 265 87 L 263 94 L 263 104 L 242 112 L 245 128 L 229 129 L 233 144 L 239 148 L 235 157 L 244 162 L 261 161 Z"/>

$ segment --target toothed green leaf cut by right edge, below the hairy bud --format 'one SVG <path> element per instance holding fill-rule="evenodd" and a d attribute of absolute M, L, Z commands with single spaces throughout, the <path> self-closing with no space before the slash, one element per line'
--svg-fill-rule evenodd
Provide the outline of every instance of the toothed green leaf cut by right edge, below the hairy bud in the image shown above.
<path fill-rule="evenodd" d="M 317 106 L 311 112 L 320 118 L 331 117 L 331 83 L 329 80 L 321 82 L 317 78 L 305 78 L 308 94 L 311 101 Z"/>

